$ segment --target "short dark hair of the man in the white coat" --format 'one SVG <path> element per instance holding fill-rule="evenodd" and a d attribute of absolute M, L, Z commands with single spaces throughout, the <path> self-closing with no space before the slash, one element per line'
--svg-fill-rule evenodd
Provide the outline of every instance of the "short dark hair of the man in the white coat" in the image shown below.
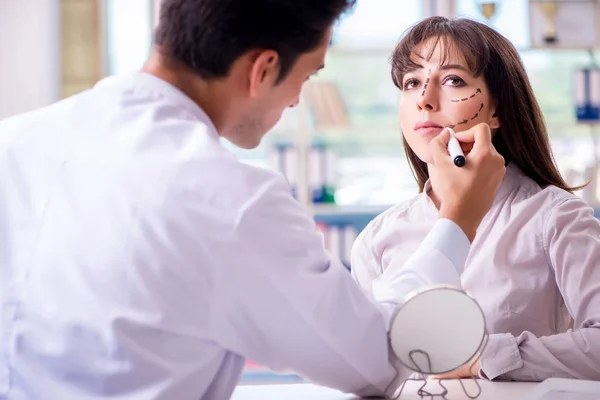
<path fill-rule="evenodd" d="M 204 79 L 253 49 L 279 55 L 279 81 L 356 0 L 163 0 L 155 44 Z"/>

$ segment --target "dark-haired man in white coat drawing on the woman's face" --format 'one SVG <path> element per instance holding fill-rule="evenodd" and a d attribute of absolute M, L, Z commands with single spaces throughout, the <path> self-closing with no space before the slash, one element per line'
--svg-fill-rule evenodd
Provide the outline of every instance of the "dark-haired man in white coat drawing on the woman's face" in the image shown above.
<path fill-rule="evenodd" d="M 143 70 L 0 122 L 0 399 L 226 399 L 247 359 L 346 392 L 408 372 L 407 291 L 459 285 L 504 163 L 432 141 L 440 220 L 367 298 L 258 145 L 352 0 L 164 0 Z M 389 392 L 388 392 L 389 393 Z"/>

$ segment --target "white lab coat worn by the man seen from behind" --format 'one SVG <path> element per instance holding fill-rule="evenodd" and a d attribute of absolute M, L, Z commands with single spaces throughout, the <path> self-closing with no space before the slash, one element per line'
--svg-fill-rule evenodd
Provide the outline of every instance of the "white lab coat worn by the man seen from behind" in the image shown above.
<path fill-rule="evenodd" d="M 378 305 L 183 93 L 109 78 L 0 122 L 0 399 L 226 399 L 247 359 L 381 393 L 398 290 L 464 265 L 442 222 Z"/>

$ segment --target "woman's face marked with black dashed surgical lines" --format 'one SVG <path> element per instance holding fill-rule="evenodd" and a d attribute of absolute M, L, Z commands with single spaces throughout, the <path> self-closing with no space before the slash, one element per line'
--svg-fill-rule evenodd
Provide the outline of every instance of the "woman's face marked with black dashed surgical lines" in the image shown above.
<path fill-rule="evenodd" d="M 419 67 L 402 79 L 400 126 L 410 148 L 426 163 L 432 162 L 429 142 L 444 127 L 463 131 L 482 122 L 499 126 L 485 80 L 473 76 L 464 56 L 449 52 L 451 56 L 440 64 L 446 50 L 443 42 L 433 52 L 434 39 L 417 46 L 411 60 Z"/>

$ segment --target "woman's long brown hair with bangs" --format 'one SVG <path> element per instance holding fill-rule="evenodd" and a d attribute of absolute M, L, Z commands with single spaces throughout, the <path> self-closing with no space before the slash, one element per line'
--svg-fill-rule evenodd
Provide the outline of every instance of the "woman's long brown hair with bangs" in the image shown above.
<path fill-rule="evenodd" d="M 430 39 L 435 40 L 431 54 L 436 46 L 443 46 L 445 54 L 441 64 L 454 52 L 464 56 L 475 76 L 483 74 L 500 121 L 493 144 L 507 163 L 518 166 L 542 187 L 554 185 L 569 192 L 581 188 L 568 186 L 558 171 L 542 110 L 519 53 L 510 41 L 487 25 L 465 18 L 431 17 L 413 26 L 391 56 L 392 79 L 398 88 L 402 89 L 406 71 L 418 67 L 411 60 L 412 52 Z M 427 164 L 417 157 L 406 140 L 404 151 L 422 192 L 429 179 Z"/>

